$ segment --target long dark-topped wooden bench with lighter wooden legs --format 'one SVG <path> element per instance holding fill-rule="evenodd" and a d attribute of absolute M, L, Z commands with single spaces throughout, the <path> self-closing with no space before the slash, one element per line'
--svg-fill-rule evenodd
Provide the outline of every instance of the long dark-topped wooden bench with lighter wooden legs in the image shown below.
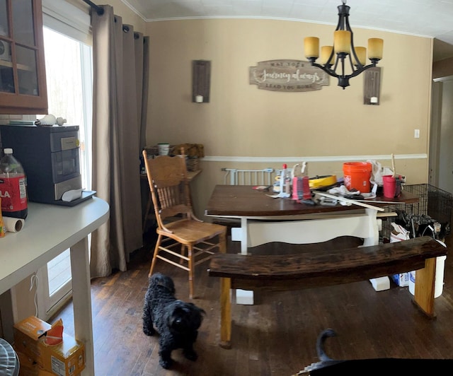
<path fill-rule="evenodd" d="M 220 346 L 231 348 L 230 289 L 299 290 L 339 285 L 417 271 L 414 304 L 434 315 L 436 257 L 447 248 L 432 237 L 348 249 L 304 250 L 297 254 L 214 254 L 209 276 L 220 280 Z"/>

